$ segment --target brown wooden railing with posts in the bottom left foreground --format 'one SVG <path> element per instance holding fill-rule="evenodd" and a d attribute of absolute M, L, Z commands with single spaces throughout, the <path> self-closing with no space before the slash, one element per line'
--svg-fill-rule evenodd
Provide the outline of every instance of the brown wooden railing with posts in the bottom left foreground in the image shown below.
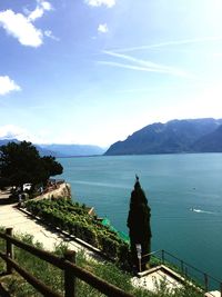
<path fill-rule="evenodd" d="M 31 245 L 24 244 L 19 239 L 12 237 L 12 228 L 7 228 L 6 232 L 0 232 L 0 238 L 6 240 L 6 253 L 0 251 L 0 257 L 7 264 L 7 274 L 12 274 L 14 269 L 20 276 L 22 276 L 30 285 L 32 285 L 39 293 L 47 297 L 61 297 L 60 294 L 53 291 L 50 287 L 43 284 L 41 280 L 37 279 L 24 268 L 19 266 L 14 261 L 13 257 L 13 246 L 21 248 L 39 257 L 40 259 L 62 269 L 64 271 L 64 296 L 74 297 L 75 294 L 75 279 L 79 278 L 91 287 L 98 289 L 100 293 L 110 297 L 133 297 L 131 294 L 123 291 L 122 289 L 104 281 L 103 279 L 94 276 L 93 274 L 80 268 L 75 265 L 75 253 L 73 250 L 68 250 L 64 257 L 58 257 L 46 250 L 36 248 Z"/>

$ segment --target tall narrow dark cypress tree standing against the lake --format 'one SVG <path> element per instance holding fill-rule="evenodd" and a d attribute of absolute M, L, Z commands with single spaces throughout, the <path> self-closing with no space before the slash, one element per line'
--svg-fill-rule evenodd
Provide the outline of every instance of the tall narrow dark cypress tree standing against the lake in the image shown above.
<path fill-rule="evenodd" d="M 139 177 L 131 192 L 130 210 L 128 216 L 128 228 L 130 234 L 130 246 L 133 266 L 139 267 L 137 245 L 141 246 L 142 270 L 150 260 L 151 248 L 151 227 L 150 227 L 150 207 L 143 189 L 140 186 Z"/>

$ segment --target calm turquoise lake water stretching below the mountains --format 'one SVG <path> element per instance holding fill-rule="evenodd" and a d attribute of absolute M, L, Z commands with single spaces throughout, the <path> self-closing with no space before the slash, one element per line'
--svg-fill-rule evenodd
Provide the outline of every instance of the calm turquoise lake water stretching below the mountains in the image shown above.
<path fill-rule="evenodd" d="M 128 234 L 135 174 L 151 207 L 152 250 L 222 279 L 222 154 L 61 158 L 74 200 Z M 192 208 L 194 211 L 192 211 Z"/>

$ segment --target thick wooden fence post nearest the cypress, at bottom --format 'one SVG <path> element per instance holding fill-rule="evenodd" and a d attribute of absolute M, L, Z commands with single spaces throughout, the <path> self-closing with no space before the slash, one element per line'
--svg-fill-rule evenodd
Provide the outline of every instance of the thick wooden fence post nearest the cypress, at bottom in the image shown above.
<path fill-rule="evenodd" d="M 67 250 L 64 253 L 64 259 L 75 264 L 75 251 Z M 75 296 L 75 276 L 69 268 L 64 269 L 64 297 Z"/>

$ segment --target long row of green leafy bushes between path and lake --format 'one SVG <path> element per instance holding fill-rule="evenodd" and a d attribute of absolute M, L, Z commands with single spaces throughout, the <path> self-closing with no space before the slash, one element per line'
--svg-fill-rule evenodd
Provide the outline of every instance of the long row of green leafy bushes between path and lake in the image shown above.
<path fill-rule="evenodd" d="M 88 244 L 99 248 L 109 258 L 115 259 L 121 266 L 129 266 L 129 245 L 108 226 L 103 226 L 97 216 L 90 216 L 87 207 L 70 199 L 29 200 L 27 209 L 53 227 L 70 232 Z"/>

